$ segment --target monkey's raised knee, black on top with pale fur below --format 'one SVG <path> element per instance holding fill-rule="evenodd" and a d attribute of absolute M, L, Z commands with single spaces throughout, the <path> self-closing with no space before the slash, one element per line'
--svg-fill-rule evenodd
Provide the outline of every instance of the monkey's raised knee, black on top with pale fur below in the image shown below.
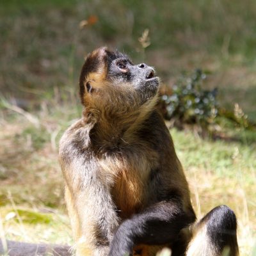
<path fill-rule="evenodd" d="M 186 256 L 237 256 L 236 216 L 226 205 L 218 206 L 191 227 Z"/>

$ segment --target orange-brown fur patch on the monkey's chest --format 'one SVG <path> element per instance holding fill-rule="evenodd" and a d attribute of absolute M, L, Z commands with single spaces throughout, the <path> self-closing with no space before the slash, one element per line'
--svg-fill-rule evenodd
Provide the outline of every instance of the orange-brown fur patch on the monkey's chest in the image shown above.
<path fill-rule="evenodd" d="M 111 195 L 120 218 L 129 218 L 146 205 L 150 173 L 159 163 L 159 154 L 145 143 L 120 152 L 108 159 L 109 170 L 115 173 Z"/>

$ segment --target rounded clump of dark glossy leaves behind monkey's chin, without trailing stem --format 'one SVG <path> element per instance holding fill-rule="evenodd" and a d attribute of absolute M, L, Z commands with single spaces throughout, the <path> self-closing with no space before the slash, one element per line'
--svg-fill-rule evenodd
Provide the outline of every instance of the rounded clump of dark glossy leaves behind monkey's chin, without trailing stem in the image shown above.
<path fill-rule="evenodd" d="M 218 115 L 217 89 L 203 90 L 206 75 L 202 70 L 184 74 L 172 88 L 171 95 L 162 95 L 164 118 L 182 123 L 207 126 Z"/>

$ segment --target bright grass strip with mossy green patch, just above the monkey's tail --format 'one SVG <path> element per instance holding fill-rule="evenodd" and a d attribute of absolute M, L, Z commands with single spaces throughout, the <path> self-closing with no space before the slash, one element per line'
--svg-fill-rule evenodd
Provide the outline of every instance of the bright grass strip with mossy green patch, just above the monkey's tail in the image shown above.
<path fill-rule="evenodd" d="M 0 208 L 6 239 L 30 243 L 72 244 L 69 220 L 61 211 L 48 208 Z"/>

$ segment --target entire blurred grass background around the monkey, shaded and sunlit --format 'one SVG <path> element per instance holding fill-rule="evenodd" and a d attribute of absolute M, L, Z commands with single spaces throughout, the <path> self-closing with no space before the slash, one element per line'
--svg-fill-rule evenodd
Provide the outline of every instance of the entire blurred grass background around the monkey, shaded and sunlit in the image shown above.
<path fill-rule="evenodd" d="M 78 77 L 88 52 L 102 45 L 125 51 L 135 63 L 156 67 L 170 87 L 184 70 L 203 68 L 220 104 L 232 110 L 237 102 L 255 122 L 255 17 L 254 0 L 2 1 L 0 236 L 72 243 L 58 140 L 81 116 Z M 138 38 L 145 29 L 150 45 L 143 49 Z M 171 133 L 198 216 L 219 204 L 232 207 L 241 255 L 253 255 L 256 135 L 232 129 L 243 140 Z"/>

